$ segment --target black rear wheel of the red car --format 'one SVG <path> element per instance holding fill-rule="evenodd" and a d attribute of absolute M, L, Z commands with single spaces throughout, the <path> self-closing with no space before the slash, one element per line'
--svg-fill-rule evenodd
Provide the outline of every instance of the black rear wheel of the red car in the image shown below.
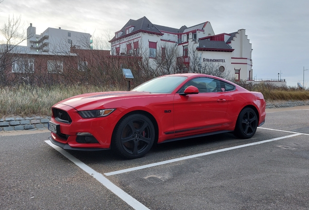
<path fill-rule="evenodd" d="M 252 108 L 242 109 L 236 122 L 234 135 L 241 139 L 250 139 L 257 131 L 257 123 L 257 114 Z"/>

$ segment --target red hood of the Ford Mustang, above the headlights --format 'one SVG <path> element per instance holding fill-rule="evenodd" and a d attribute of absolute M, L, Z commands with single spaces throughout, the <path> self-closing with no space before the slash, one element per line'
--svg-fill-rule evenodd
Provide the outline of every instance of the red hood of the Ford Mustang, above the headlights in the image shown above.
<path fill-rule="evenodd" d="M 58 104 L 69 105 L 77 110 L 89 110 L 102 108 L 103 105 L 107 103 L 128 99 L 128 98 L 138 98 L 154 96 L 158 93 L 150 92 L 137 92 L 137 91 L 113 91 L 113 92 L 96 92 L 96 93 L 86 93 L 82 95 L 73 96 L 71 98 L 65 99 Z M 162 95 L 162 94 L 160 94 Z M 166 94 L 165 94 L 166 95 Z M 95 106 L 91 106 L 96 104 Z M 91 107 L 90 107 L 91 106 Z M 109 107 L 114 108 L 114 107 Z"/>

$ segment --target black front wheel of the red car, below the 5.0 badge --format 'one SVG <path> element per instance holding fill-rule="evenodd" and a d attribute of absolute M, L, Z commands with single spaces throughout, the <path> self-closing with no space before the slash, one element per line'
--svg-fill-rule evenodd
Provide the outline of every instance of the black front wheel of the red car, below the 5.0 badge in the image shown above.
<path fill-rule="evenodd" d="M 131 114 L 117 125 L 112 147 L 125 158 L 143 157 L 154 144 L 154 124 L 142 114 Z"/>

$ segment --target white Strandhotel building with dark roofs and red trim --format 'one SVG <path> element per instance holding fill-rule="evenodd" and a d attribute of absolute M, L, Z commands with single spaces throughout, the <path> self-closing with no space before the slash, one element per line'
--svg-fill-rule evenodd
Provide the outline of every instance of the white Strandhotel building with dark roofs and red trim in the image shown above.
<path fill-rule="evenodd" d="M 113 55 L 133 55 L 148 49 L 149 59 L 157 51 L 164 54 L 165 46 L 173 46 L 180 55 L 183 71 L 190 68 L 192 52 L 201 63 L 214 62 L 235 75 L 236 80 L 253 80 L 252 46 L 244 29 L 215 35 L 210 22 L 179 29 L 155 25 L 146 17 L 130 19 L 110 40 Z"/>

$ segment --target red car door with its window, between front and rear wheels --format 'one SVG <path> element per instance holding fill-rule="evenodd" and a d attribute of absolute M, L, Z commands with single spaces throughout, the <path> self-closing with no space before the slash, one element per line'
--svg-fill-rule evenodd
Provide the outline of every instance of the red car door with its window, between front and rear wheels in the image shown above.
<path fill-rule="evenodd" d="M 191 85 L 199 89 L 198 94 L 179 94 Z M 223 91 L 213 78 L 195 78 L 184 85 L 174 96 L 175 136 L 221 130 L 228 105 Z"/>

